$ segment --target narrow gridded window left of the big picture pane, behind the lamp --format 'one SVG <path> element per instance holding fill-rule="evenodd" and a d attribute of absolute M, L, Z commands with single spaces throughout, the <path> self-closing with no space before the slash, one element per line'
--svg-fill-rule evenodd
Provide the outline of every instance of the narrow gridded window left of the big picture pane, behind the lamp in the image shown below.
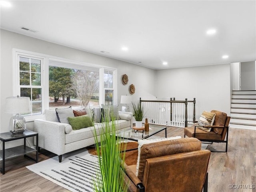
<path fill-rule="evenodd" d="M 42 114 L 42 63 L 40 58 L 18 56 L 19 95 L 29 97 L 31 115 Z M 28 114 L 26 114 L 28 115 Z"/>

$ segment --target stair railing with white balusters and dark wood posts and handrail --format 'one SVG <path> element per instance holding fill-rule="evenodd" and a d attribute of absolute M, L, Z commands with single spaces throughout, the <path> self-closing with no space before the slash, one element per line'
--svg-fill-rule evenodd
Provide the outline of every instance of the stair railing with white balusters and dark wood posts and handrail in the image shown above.
<path fill-rule="evenodd" d="M 188 122 L 196 121 L 196 98 L 194 100 L 141 100 L 145 109 L 145 117 L 152 124 L 187 127 Z"/>

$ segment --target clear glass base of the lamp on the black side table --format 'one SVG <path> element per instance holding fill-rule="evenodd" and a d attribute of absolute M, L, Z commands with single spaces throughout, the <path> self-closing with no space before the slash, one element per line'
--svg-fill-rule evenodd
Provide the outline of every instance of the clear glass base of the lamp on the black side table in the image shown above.
<path fill-rule="evenodd" d="M 26 130 L 26 120 L 20 114 L 16 114 L 10 119 L 9 126 L 13 135 L 22 134 Z"/>

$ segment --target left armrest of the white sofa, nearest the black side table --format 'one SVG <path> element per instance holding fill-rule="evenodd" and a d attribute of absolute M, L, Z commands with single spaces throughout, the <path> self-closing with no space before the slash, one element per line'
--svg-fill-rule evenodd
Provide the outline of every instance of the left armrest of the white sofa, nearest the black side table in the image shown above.
<path fill-rule="evenodd" d="M 65 128 L 68 126 L 70 125 L 66 123 L 43 119 L 34 120 L 34 131 L 38 132 L 38 146 L 57 155 L 64 154 Z"/>

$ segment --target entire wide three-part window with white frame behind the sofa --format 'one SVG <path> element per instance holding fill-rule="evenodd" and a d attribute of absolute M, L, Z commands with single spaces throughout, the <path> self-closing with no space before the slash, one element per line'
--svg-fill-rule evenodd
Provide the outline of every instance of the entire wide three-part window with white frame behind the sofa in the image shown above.
<path fill-rule="evenodd" d="M 117 103 L 116 69 L 15 49 L 14 95 L 28 96 L 26 121 L 45 109 Z"/>

